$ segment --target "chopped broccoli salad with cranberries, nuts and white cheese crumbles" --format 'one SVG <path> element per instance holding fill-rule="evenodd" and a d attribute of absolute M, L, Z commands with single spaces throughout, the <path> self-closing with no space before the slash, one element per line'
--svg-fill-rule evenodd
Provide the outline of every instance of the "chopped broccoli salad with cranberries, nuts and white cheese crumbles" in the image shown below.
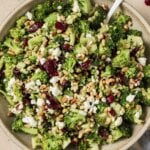
<path fill-rule="evenodd" d="M 0 92 L 12 130 L 33 149 L 99 149 L 132 135 L 150 105 L 142 33 L 107 5 L 47 0 L 20 17 L 0 43 Z"/>

